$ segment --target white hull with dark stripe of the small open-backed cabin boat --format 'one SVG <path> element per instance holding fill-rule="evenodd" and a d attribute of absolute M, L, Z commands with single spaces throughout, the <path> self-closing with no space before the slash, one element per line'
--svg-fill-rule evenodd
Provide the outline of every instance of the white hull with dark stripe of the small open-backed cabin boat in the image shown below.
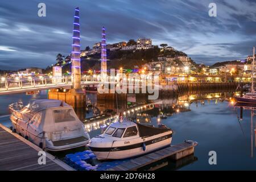
<path fill-rule="evenodd" d="M 127 159 L 170 146 L 171 141 L 172 134 L 168 134 L 151 140 L 145 140 L 145 142 L 143 142 L 144 150 L 143 143 L 136 143 L 130 146 L 115 146 L 110 148 L 97 148 L 90 145 L 88 145 L 88 147 L 93 151 L 98 160 Z"/>

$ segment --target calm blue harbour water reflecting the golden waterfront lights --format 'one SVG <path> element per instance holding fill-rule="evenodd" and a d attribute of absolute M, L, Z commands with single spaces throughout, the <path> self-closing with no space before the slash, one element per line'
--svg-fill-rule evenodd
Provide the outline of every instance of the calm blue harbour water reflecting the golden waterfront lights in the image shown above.
<path fill-rule="evenodd" d="M 38 95 L 13 94 L 0 96 L 0 123 L 10 127 L 8 105 L 23 101 L 47 98 L 47 91 Z M 158 125 L 162 123 L 174 131 L 172 144 L 185 139 L 195 140 L 199 146 L 195 148 L 193 158 L 185 160 L 182 165 L 164 161 L 166 166 L 161 170 L 243 170 L 256 169 L 255 158 L 255 118 L 251 126 L 251 110 L 243 110 L 240 119 L 240 108 L 230 102 L 233 92 L 227 93 L 184 93 L 177 98 L 162 98 L 155 101 L 155 108 L 137 115 L 139 122 Z M 129 96 L 127 101 L 118 102 L 118 110 L 125 110 L 129 105 L 138 104 L 138 99 Z M 97 105 L 98 110 L 112 109 L 116 111 L 116 103 L 97 101 L 96 94 L 86 95 L 87 104 Z M 137 101 L 138 102 L 138 101 Z M 139 101 L 141 103 L 141 101 Z M 94 112 L 95 113 L 95 112 Z M 163 117 L 164 113 L 166 118 Z M 93 116 L 93 110 L 86 113 L 86 118 Z M 94 137 L 102 132 L 102 128 L 89 132 Z M 209 164 L 209 151 L 216 151 L 217 164 Z"/>

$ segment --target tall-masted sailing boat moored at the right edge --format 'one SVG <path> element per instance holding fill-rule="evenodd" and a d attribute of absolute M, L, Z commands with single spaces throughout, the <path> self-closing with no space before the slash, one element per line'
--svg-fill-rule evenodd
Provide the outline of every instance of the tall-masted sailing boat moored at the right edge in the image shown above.
<path fill-rule="evenodd" d="M 237 102 L 254 103 L 256 104 L 256 93 L 254 91 L 254 60 L 255 60 L 255 47 L 253 47 L 253 68 L 251 72 L 251 92 L 246 93 L 242 97 L 235 96 Z"/>

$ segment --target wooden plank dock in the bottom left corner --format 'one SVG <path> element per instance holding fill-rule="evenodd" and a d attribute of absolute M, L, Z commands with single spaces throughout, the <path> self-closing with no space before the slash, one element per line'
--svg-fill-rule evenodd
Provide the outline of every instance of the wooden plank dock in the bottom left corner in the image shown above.
<path fill-rule="evenodd" d="M 41 148 L 28 140 L 14 134 L 10 129 L 0 124 L 0 170 L 43 170 L 63 171 L 73 170 L 67 164 L 55 159 L 46 152 L 46 164 L 38 164 L 38 152 Z"/>

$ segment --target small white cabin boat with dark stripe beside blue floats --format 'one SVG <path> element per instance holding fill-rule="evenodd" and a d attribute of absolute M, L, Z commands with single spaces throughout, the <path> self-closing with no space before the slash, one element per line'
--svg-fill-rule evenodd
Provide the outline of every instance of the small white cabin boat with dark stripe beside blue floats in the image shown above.
<path fill-rule="evenodd" d="M 126 159 L 170 146 L 172 130 L 141 125 L 130 119 L 110 124 L 108 129 L 88 144 L 98 160 Z"/>

